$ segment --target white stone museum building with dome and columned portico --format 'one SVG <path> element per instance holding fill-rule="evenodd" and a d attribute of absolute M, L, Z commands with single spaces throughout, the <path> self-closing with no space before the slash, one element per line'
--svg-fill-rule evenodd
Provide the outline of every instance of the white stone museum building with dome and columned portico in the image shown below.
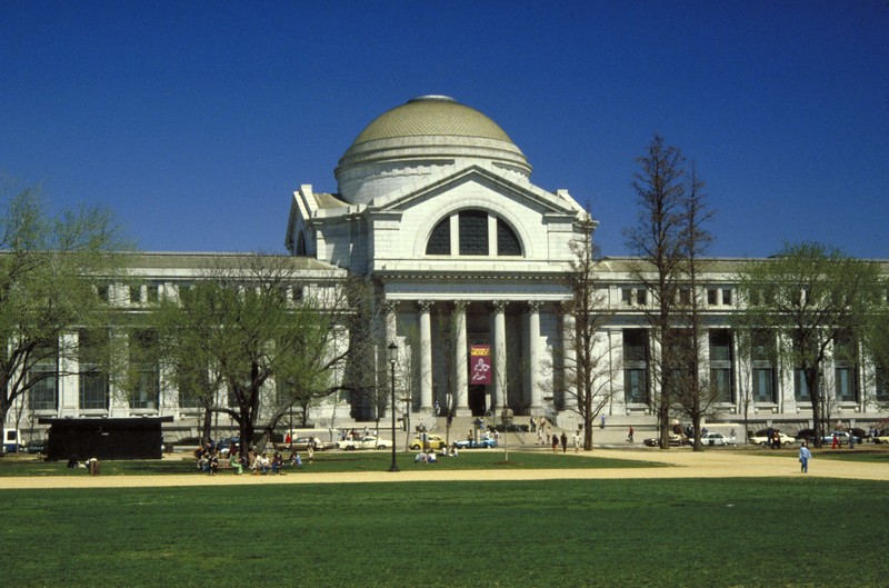
<path fill-rule="evenodd" d="M 566 342 L 573 328 L 562 311 L 571 299 L 565 276 L 570 243 L 591 219 L 569 192 L 532 183 L 531 165 L 503 129 L 443 96 L 414 98 L 379 116 L 340 158 L 334 176 L 336 192 L 307 183 L 293 193 L 286 247 L 307 279 L 362 276 L 377 289 L 381 352 L 392 341 L 400 352 L 398 411 L 431 422 L 442 407 L 458 417 L 509 407 L 517 416 L 547 416 L 575 428 L 579 419 L 559 368 L 570 363 Z M 210 257 L 220 256 L 139 253 L 129 269 L 142 285 L 112 285 L 109 296 L 134 309 L 174 296 L 199 279 Z M 603 415 L 611 425 L 639 428 L 655 425 L 655 351 L 646 328 L 652 298 L 633 261 L 601 262 L 610 319 L 600 345 L 610 366 Z M 756 352 L 739 357 L 730 318 L 738 311 L 732 280 L 741 261 L 710 259 L 701 278 L 705 363 L 719 389 L 708 422 L 738 422 L 747 412 L 752 429 L 811 426 L 811 402 L 797 370 Z M 485 377 L 470 369 L 476 352 L 487 358 Z M 840 361 L 826 367 L 825 392 L 835 399 L 836 419 L 862 427 L 879 419 L 868 399 L 886 391 L 871 389 L 879 380 L 872 369 Z M 197 433 L 198 407 L 168 389 L 161 373 L 158 380 L 157 395 L 124 400 L 107 380 L 76 373 L 48 379 L 26 412 L 172 417 L 164 429 Z M 312 411 L 316 427 L 331 429 L 376 416 L 349 395 L 334 395 Z"/>

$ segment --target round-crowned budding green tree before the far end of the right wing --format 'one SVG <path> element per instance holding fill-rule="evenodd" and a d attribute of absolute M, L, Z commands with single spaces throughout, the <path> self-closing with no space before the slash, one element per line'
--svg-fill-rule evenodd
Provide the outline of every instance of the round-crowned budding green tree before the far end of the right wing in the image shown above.
<path fill-rule="evenodd" d="M 885 296 L 879 266 L 821 243 L 786 245 L 769 259 L 747 262 L 738 291 L 745 311 L 736 327 L 778 335 L 777 357 L 805 379 L 820 447 L 829 402 L 820 375 L 831 353 L 857 348 L 846 343 L 867 336 Z"/>

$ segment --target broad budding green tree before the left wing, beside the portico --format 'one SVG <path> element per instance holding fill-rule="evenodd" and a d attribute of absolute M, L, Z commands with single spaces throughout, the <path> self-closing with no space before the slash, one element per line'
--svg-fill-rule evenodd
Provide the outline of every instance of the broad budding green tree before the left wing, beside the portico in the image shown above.
<path fill-rule="evenodd" d="M 363 350 L 357 297 L 361 280 L 300 278 L 298 258 L 244 256 L 203 270 L 178 300 L 153 313 L 162 363 L 172 382 L 211 413 L 237 422 L 242 451 L 263 447 L 293 406 L 344 388 L 333 381 Z"/>

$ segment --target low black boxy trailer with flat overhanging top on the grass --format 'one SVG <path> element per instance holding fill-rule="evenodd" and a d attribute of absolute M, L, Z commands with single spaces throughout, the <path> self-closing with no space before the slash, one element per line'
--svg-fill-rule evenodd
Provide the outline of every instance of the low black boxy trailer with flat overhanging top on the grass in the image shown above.
<path fill-rule="evenodd" d="M 172 417 L 41 418 L 49 425 L 47 459 L 160 459 L 163 422 Z"/>

